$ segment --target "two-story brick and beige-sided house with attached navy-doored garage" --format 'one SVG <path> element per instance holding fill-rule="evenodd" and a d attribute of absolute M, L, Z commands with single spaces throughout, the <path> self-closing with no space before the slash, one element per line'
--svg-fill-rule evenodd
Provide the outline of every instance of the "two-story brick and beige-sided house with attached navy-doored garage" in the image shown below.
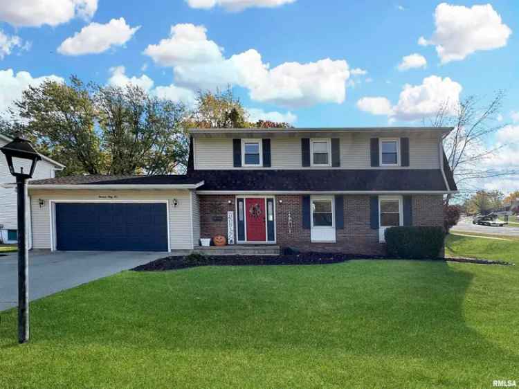
<path fill-rule="evenodd" d="M 378 254 L 392 226 L 443 226 L 451 128 L 194 129 L 188 173 L 32 181 L 33 246 L 192 249 L 201 238 Z"/>

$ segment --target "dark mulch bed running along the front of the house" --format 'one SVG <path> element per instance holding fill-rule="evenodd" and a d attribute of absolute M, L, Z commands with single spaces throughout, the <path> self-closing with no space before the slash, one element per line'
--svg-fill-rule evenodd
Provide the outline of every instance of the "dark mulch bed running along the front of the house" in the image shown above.
<path fill-rule="evenodd" d="M 353 255 L 340 253 L 301 253 L 293 255 L 206 255 L 197 263 L 185 262 L 183 256 L 164 257 L 147 264 L 137 266 L 134 271 L 165 271 L 187 269 L 197 266 L 264 266 L 264 265 L 312 265 L 335 264 L 349 260 L 399 260 L 376 255 Z M 437 262 L 466 262 L 472 264 L 512 265 L 511 262 L 482 260 L 477 258 L 436 258 Z"/>

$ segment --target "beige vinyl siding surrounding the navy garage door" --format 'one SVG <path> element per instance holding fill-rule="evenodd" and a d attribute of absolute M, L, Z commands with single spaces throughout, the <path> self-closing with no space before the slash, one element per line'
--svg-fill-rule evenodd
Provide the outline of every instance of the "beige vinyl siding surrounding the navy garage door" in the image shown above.
<path fill-rule="evenodd" d="M 29 195 L 33 248 L 51 248 L 50 201 L 106 201 L 107 199 L 102 197 L 107 196 L 115 197 L 113 201 L 167 201 L 170 214 L 170 248 L 192 248 L 190 193 L 189 190 L 37 190 L 31 188 Z M 44 200 L 44 206 L 39 206 L 39 199 Z M 178 203 L 176 207 L 173 206 L 172 199 L 176 199 Z M 53 240 L 55 241 L 54 237 Z"/>

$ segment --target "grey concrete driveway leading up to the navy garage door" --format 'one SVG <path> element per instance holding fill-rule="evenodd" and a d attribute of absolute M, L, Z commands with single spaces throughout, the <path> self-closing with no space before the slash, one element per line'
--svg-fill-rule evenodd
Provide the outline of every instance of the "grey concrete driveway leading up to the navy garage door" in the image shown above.
<path fill-rule="evenodd" d="M 35 300 L 165 257 L 136 251 L 29 253 L 29 298 Z M 0 257 L 0 311 L 18 305 L 18 257 Z"/>

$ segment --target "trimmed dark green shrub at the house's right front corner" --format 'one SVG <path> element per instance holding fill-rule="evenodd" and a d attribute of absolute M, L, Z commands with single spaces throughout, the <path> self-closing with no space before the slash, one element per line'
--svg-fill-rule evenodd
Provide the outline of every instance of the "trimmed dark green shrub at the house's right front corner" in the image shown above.
<path fill-rule="evenodd" d="M 398 258 L 437 258 L 444 246 L 441 227 L 392 227 L 385 230 L 388 255 Z"/>

